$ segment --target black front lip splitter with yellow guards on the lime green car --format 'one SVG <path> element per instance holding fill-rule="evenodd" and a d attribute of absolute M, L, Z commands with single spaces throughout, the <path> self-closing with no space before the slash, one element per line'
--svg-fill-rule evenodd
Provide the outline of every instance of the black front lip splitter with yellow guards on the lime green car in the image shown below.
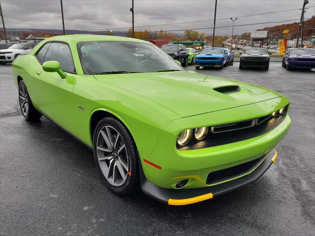
<path fill-rule="evenodd" d="M 262 161 L 262 163 L 260 163 L 260 165 L 258 165 L 248 175 L 206 188 L 178 190 L 161 188 L 149 182 L 145 178 L 141 168 L 141 189 L 146 195 L 158 200 L 159 202 L 174 206 L 189 205 L 217 197 L 257 180 L 268 170 L 271 164 L 275 162 L 277 155 L 277 151 L 273 149 L 266 154 L 266 158 Z"/>

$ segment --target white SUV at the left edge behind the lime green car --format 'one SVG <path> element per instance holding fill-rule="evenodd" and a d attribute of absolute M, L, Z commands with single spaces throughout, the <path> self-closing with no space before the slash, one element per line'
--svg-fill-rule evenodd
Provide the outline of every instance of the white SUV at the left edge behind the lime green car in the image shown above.
<path fill-rule="evenodd" d="M 0 50 L 0 64 L 12 62 L 17 56 L 28 54 L 36 44 L 37 43 L 17 43 L 13 44 L 8 49 Z"/>

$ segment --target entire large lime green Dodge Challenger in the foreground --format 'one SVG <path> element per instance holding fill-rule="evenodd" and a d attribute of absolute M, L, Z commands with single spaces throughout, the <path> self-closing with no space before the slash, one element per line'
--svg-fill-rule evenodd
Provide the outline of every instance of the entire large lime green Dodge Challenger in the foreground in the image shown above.
<path fill-rule="evenodd" d="M 65 35 L 43 40 L 12 70 L 24 118 L 45 116 L 93 149 L 111 191 L 140 186 L 187 205 L 260 177 L 291 120 L 283 95 L 178 63 L 138 39 Z"/>

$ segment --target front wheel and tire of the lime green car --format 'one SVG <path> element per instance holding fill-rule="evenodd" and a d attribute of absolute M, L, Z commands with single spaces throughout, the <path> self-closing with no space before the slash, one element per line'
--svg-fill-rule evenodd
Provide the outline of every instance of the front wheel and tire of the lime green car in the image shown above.
<path fill-rule="evenodd" d="M 93 153 L 95 165 L 109 190 L 119 195 L 127 195 L 139 188 L 136 147 L 120 120 L 106 117 L 97 123 L 93 137 Z M 103 160 L 100 160 L 101 158 Z"/>

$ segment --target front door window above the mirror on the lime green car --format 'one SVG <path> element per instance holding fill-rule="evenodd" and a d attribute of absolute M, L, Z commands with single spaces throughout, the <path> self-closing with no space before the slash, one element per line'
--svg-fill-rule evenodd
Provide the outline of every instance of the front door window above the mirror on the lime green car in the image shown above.
<path fill-rule="evenodd" d="M 64 43 L 52 43 L 45 56 L 44 62 L 48 60 L 57 60 L 63 71 L 74 73 L 74 63 L 70 48 Z"/>

